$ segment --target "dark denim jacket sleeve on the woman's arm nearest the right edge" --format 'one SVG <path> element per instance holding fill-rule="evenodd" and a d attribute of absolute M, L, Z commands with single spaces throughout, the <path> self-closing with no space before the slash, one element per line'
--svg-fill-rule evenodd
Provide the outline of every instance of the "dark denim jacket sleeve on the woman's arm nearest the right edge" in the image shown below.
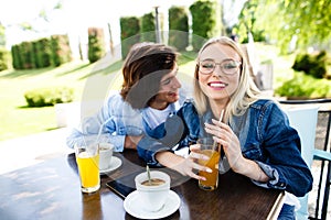
<path fill-rule="evenodd" d="M 256 162 L 270 180 L 266 184 L 254 183 L 302 197 L 312 189 L 312 175 L 301 156 L 298 132 L 289 125 L 287 116 L 278 106 L 265 108 L 263 114 L 268 116 L 258 118 L 268 121 L 258 121 L 258 124 L 266 124 L 258 131 L 265 158 L 257 158 Z"/>

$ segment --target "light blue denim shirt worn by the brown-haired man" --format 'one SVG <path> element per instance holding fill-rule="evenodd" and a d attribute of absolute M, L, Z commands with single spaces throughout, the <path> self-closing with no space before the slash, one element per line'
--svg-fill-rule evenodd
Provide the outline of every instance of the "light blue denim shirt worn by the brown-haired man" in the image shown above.
<path fill-rule="evenodd" d="M 182 91 L 180 100 L 170 105 L 172 111 L 179 110 L 184 100 L 185 96 Z M 145 132 L 153 138 L 163 135 L 164 123 L 152 130 L 146 121 L 148 118 L 145 109 L 132 109 L 117 92 L 107 99 L 96 116 L 83 119 L 79 128 L 72 130 L 66 139 L 66 144 L 73 148 L 75 143 L 83 144 L 85 138 L 96 139 L 100 132 L 99 142 L 113 143 L 115 152 L 122 152 L 126 135 L 138 136 Z"/>

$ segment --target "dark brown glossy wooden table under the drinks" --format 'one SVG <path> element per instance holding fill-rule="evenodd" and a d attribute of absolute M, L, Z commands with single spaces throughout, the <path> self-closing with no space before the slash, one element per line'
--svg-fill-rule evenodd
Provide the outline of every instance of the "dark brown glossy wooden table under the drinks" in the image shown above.
<path fill-rule="evenodd" d="M 81 193 L 74 154 L 1 175 L 0 219 L 136 219 L 106 183 L 142 172 L 145 164 L 134 151 L 115 155 L 122 165 L 103 176 L 100 190 L 90 195 Z M 257 187 L 233 172 L 220 176 L 217 190 L 204 191 L 195 179 L 183 182 L 162 170 L 171 175 L 172 190 L 181 198 L 179 210 L 167 219 L 273 219 L 282 206 L 282 191 Z"/>

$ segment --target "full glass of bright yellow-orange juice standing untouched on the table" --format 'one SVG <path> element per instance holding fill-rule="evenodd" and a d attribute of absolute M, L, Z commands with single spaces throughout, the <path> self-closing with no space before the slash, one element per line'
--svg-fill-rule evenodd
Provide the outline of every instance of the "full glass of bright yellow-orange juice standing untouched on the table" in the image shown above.
<path fill-rule="evenodd" d="M 94 140 L 75 144 L 75 155 L 83 193 L 94 193 L 100 188 L 99 150 Z"/>

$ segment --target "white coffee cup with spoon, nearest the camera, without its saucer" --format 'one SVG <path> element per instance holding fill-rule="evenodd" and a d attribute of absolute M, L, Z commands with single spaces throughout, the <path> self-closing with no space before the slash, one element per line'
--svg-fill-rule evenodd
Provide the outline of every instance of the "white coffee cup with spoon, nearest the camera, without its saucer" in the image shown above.
<path fill-rule="evenodd" d="M 150 175 L 151 179 L 162 179 L 164 183 L 156 186 L 142 185 L 143 182 L 148 182 L 148 175 L 145 172 L 136 176 L 136 188 L 141 198 L 142 208 L 146 211 L 159 211 L 164 206 L 170 193 L 170 176 L 158 170 L 150 172 Z"/>

